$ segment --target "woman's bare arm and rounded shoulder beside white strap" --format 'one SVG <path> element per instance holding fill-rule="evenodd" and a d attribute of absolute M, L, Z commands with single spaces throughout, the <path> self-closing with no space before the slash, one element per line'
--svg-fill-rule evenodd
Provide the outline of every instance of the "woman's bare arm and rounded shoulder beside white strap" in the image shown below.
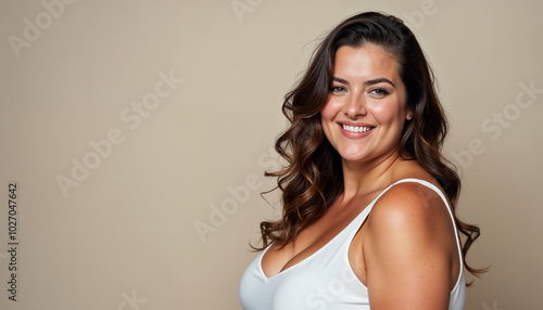
<path fill-rule="evenodd" d="M 399 184 L 377 202 L 366 224 L 363 253 L 371 309 L 447 309 L 457 254 L 438 194 Z"/>

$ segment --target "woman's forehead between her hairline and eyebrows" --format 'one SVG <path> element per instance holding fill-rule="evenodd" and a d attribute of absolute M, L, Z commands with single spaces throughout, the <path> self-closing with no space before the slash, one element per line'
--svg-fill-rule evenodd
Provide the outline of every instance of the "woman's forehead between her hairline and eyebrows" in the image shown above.
<path fill-rule="evenodd" d="M 395 57 L 381 47 L 371 43 L 339 48 L 333 61 L 333 75 L 341 75 L 343 78 L 386 77 L 393 81 L 400 79 Z"/>

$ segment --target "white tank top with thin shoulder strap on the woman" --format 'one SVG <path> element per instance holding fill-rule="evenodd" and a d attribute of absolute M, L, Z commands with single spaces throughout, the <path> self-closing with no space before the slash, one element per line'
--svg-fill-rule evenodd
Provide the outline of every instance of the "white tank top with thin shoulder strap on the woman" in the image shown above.
<path fill-rule="evenodd" d="M 346 228 L 325 246 L 299 263 L 274 276 L 266 276 L 262 270 L 263 250 L 248 267 L 239 287 L 241 306 L 245 310 L 364 310 L 369 308 L 368 289 L 358 280 L 349 262 L 349 247 L 364 223 L 375 203 L 390 188 L 403 182 L 417 182 L 435 191 L 454 218 L 443 193 L 433 184 L 418 179 L 404 179 L 382 191 Z M 463 310 L 466 299 L 466 284 L 463 258 L 456 225 L 454 225 L 460 272 L 451 290 L 449 309 Z"/>

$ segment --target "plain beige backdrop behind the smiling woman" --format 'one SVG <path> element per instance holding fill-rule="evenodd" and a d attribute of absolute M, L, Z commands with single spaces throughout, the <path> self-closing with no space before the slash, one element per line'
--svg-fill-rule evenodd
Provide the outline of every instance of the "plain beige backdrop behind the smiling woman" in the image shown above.
<path fill-rule="evenodd" d="M 240 309 L 248 243 L 278 214 L 258 193 L 282 95 L 315 39 L 366 10 L 405 18 L 437 73 L 459 214 L 482 230 L 469 258 L 492 266 L 467 309 L 542 309 L 543 2 L 65 2 L 0 4 L 1 309 Z M 79 181 L 73 160 L 92 166 Z"/>

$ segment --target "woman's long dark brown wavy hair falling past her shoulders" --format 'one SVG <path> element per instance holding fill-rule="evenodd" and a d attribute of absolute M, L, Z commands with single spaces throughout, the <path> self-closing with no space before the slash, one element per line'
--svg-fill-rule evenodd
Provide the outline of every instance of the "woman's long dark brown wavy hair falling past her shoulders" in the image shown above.
<path fill-rule="evenodd" d="M 405 122 L 400 155 L 416 159 L 442 185 L 464 235 L 464 266 L 476 275 L 484 272 L 466 262 L 466 254 L 480 230 L 456 217 L 460 180 L 441 154 L 447 120 L 435 93 L 433 73 L 409 28 L 400 18 L 377 12 L 352 16 L 333 28 L 317 47 L 302 79 L 285 96 L 282 113 L 290 127 L 279 135 L 275 150 L 287 165 L 279 171 L 265 172 L 266 177 L 277 178 L 276 189 L 282 192 L 282 217 L 261 222 L 263 245 L 255 249 L 262 250 L 272 242 L 280 246 L 292 242 L 343 192 L 341 157 L 324 134 L 320 111 L 331 87 L 337 50 L 365 43 L 379 46 L 394 55 L 405 85 L 406 107 L 413 112 L 413 119 Z"/>

